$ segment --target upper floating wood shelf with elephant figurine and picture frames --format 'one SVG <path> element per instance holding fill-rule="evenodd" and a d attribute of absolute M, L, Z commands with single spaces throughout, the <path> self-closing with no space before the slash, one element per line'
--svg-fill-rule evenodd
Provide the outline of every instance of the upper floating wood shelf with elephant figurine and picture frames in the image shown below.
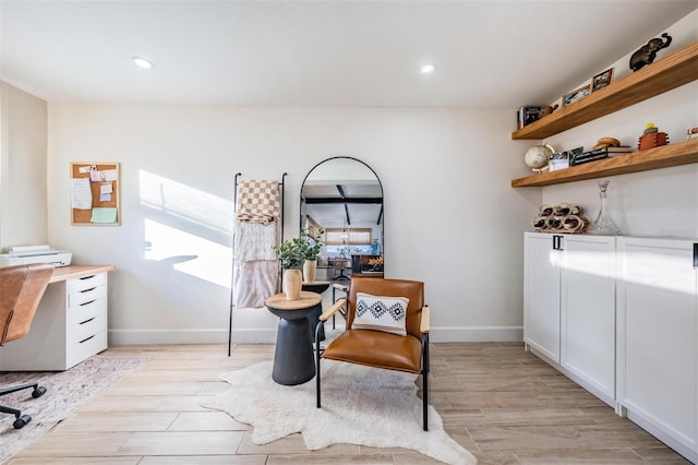
<path fill-rule="evenodd" d="M 513 132 L 512 139 L 545 139 L 697 79 L 698 41 Z"/>

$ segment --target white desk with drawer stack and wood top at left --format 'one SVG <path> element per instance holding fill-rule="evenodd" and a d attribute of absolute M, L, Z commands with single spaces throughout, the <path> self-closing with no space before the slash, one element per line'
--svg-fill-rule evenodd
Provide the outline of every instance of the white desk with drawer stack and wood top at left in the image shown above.
<path fill-rule="evenodd" d="M 29 334 L 0 349 L 0 371 L 61 371 L 107 348 L 107 271 L 57 269 Z M 96 269 L 99 272 L 91 273 Z"/>

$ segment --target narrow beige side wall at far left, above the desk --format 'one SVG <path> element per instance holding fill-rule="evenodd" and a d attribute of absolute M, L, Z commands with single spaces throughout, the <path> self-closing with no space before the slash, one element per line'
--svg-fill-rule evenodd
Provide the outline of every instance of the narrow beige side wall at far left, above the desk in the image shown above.
<path fill-rule="evenodd" d="M 0 250 L 47 242 L 46 102 L 0 82 Z"/>

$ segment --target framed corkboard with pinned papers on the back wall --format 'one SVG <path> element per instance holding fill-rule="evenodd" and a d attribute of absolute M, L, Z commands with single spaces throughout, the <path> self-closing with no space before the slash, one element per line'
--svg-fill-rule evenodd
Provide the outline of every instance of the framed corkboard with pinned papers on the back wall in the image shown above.
<path fill-rule="evenodd" d="M 70 164 L 71 225 L 119 226 L 121 193 L 119 164 Z"/>

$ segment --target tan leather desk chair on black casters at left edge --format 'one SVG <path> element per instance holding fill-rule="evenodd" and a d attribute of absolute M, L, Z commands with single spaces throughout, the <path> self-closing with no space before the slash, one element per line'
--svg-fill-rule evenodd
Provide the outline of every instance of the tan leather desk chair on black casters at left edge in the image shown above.
<path fill-rule="evenodd" d="M 44 263 L 0 267 L 0 346 L 28 334 L 32 320 L 52 274 L 53 266 Z M 38 383 L 26 383 L 0 388 L 0 395 L 29 388 L 34 390 L 34 398 L 46 393 L 46 388 Z M 0 405 L 0 413 L 14 415 L 13 426 L 16 429 L 32 421 L 31 416 L 22 415 L 16 408 Z"/>

